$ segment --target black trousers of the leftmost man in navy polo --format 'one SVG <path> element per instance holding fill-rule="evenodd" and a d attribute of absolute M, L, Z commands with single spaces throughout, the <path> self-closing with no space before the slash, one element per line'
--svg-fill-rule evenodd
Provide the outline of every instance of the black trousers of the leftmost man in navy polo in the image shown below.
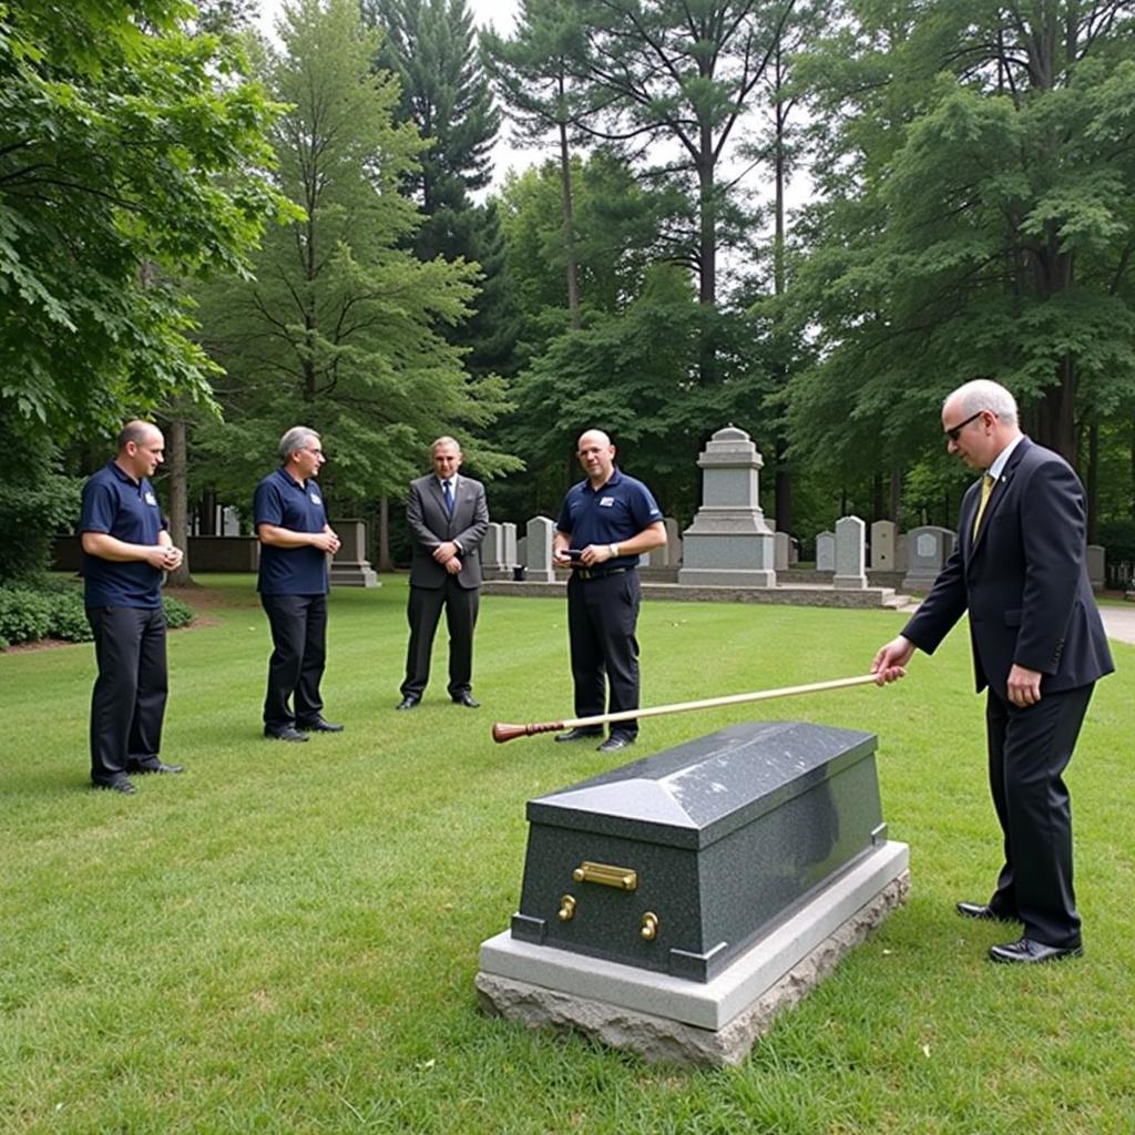
<path fill-rule="evenodd" d="M 91 693 L 91 780 L 154 768 L 169 681 L 161 607 L 87 607 L 99 676 Z"/>

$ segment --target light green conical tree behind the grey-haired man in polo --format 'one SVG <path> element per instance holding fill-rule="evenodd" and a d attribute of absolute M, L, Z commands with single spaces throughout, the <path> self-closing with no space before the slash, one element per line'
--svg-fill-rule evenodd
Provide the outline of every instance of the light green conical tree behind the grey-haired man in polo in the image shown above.
<path fill-rule="evenodd" d="M 243 502 L 297 422 L 323 435 L 335 503 L 401 494 L 428 443 L 469 435 L 505 406 L 499 379 L 472 380 L 438 328 L 469 312 L 477 270 L 406 249 L 420 222 L 403 192 L 426 146 L 394 114 L 398 86 L 372 72 L 377 32 L 352 0 L 286 9 L 283 49 L 267 62 L 292 104 L 272 133 L 279 186 L 306 219 L 267 235 L 254 280 L 201 292 L 224 426 L 197 429 L 199 478 Z M 515 468 L 466 446 L 481 473 Z"/>

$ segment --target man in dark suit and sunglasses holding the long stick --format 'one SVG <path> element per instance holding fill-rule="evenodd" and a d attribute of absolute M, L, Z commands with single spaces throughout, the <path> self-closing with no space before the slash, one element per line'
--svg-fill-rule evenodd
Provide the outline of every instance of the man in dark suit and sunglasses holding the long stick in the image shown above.
<path fill-rule="evenodd" d="M 957 546 L 930 595 L 872 671 L 880 684 L 901 678 L 916 647 L 933 654 L 969 612 L 1004 864 L 989 902 L 958 911 L 1023 924 L 1018 941 L 991 948 L 994 961 L 1049 961 L 1083 952 L 1062 774 L 1094 683 L 1115 669 L 1087 581 L 1084 490 L 1059 454 L 1022 434 L 997 382 L 955 390 L 942 428 L 947 451 L 985 476 L 962 498 Z"/>

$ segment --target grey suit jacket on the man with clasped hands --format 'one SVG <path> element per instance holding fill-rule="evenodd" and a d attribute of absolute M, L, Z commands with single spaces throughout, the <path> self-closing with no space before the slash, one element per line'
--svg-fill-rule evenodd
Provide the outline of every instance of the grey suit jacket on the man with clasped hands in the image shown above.
<path fill-rule="evenodd" d="M 413 587 L 442 587 L 449 578 L 443 564 L 434 560 L 434 549 L 445 540 L 461 545 L 459 587 L 481 586 L 481 540 L 489 530 L 489 508 L 485 486 L 471 477 L 457 476 L 453 515 L 445 511 L 445 498 L 437 476 L 419 477 L 410 482 L 406 501 L 406 523 L 414 540 L 410 565 Z"/>

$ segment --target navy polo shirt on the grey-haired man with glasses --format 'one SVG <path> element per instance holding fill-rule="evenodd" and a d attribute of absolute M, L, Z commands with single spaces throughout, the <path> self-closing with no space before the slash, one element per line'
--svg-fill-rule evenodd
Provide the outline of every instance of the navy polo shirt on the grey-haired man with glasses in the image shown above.
<path fill-rule="evenodd" d="M 252 516 L 258 530 L 260 524 L 275 524 L 293 532 L 321 532 L 327 523 L 319 486 L 310 479 L 301 485 L 283 466 L 257 486 Z M 309 545 L 277 548 L 261 543 L 257 590 L 263 595 L 326 595 L 326 553 Z"/>

